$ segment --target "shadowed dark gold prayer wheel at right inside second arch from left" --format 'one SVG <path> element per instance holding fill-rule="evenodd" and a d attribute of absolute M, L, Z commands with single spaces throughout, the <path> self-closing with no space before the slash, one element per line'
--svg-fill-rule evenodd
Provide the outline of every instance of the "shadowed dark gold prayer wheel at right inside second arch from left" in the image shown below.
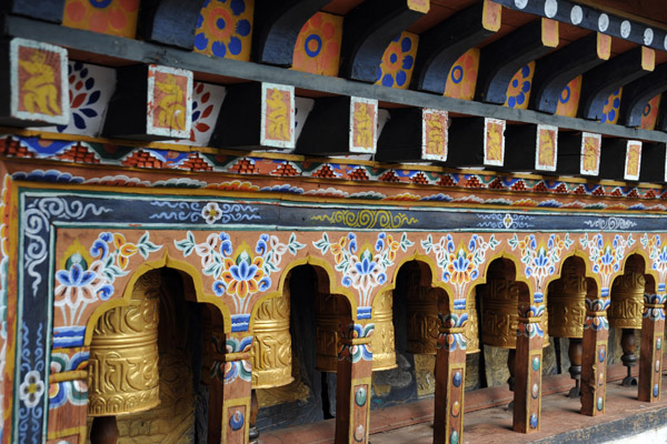
<path fill-rule="evenodd" d="M 319 293 L 315 303 L 315 316 L 317 319 L 315 367 L 320 372 L 336 373 L 339 325 L 350 322 L 349 307 L 341 296 Z"/>

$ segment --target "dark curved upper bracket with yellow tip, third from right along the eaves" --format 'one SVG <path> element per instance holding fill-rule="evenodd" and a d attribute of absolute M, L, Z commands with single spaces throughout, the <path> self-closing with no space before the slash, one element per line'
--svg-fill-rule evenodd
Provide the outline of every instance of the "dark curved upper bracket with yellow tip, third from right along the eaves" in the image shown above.
<path fill-rule="evenodd" d="M 555 113 L 568 82 L 609 59 L 610 40 L 608 36 L 593 33 L 538 60 L 530 108 Z"/>

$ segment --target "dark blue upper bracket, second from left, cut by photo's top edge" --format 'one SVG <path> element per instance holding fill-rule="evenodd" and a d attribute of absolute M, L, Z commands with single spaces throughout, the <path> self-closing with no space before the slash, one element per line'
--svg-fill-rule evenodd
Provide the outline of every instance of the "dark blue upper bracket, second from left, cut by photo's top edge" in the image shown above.
<path fill-rule="evenodd" d="M 203 0 L 151 0 L 141 3 L 143 37 L 157 43 L 191 50 Z"/>

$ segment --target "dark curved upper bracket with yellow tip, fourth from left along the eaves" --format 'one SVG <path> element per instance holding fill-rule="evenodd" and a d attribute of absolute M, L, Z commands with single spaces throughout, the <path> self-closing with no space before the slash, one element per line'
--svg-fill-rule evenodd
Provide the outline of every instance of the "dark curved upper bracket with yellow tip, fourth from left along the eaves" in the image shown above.
<path fill-rule="evenodd" d="M 428 0 L 368 0 L 346 16 L 340 74 L 374 83 L 385 49 L 425 16 Z"/>

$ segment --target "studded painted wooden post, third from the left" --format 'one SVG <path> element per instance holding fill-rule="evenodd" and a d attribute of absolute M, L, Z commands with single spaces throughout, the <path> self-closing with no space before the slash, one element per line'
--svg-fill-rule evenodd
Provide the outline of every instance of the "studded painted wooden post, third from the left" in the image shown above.
<path fill-rule="evenodd" d="M 468 313 L 438 314 L 434 444 L 458 444 L 464 435 L 464 389 Z"/>

